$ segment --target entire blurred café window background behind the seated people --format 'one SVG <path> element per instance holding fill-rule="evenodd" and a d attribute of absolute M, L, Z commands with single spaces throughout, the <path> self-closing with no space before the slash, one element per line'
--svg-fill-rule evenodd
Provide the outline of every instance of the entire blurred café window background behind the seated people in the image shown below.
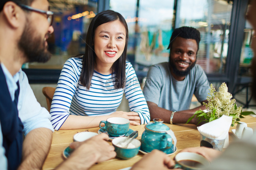
<path fill-rule="evenodd" d="M 141 83 L 149 66 L 167 62 L 172 31 L 197 28 L 201 42 L 196 63 L 215 87 L 226 82 L 243 107 L 254 106 L 250 95 L 250 43 L 253 30 L 245 20 L 249 0 L 48 0 L 54 12 L 54 33 L 48 39 L 53 54 L 47 63 L 23 66 L 29 83 L 43 105 L 42 88 L 56 87 L 64 62 L 84 53 L 92 18 L 112 9 L 121 13 L 129 28 L 127 60 Z"/>

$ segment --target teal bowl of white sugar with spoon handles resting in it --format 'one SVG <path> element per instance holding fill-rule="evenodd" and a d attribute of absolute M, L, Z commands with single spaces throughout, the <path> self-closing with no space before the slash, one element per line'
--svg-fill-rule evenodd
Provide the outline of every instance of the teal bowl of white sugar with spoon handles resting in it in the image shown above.
<path fill-rule="evenodd" d="M 120 141 L 123 141 L 127 137 L 118 137 L 112 140 L 112 144 L 115 147 L 116 156 L 121 159 L 130 159 L 136 156 L 141 147 L 141 142 L 137 139 L 133 139 L 127 148 L 124 148 Z"/>

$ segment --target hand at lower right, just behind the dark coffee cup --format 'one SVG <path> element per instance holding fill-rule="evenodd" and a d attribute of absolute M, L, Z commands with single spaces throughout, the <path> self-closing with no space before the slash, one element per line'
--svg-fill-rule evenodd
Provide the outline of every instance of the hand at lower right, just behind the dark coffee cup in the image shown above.
<path fill-rule="evenodd" d="M 213 161 L 213 159 L 219 157 L 222 153 L 221 151 L 214 150 L 214 149 L 208 148 L 208 147 L 188 147 L 188 148 L 181 150 L 180 152 L 198 153 L 198 154 L 204 156 L 210 162 Z"/>

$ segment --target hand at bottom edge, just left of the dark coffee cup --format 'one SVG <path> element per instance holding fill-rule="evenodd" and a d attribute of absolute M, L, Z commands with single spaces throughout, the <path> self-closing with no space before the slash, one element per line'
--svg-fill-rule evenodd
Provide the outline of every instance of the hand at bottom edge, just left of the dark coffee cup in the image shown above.
<path fill-rule="evenodd" d="M 144 170 L 144 169 L 170 169 L 175 165 L 174 160 L 167 156 L 164 152 L 159 150 L 153 150 L 149 154 L 146 154 L 140 161 L 135 163 L 131 170 Z M 178 169 L 177 169 L 178 170 Z"/>

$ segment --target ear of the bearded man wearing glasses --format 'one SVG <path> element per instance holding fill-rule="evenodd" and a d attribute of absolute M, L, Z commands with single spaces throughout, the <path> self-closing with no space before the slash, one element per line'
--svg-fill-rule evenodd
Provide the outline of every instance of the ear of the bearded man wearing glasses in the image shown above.
<path fill-rule="evenodd" d="M 4 4 L 3 15 L 6 22 L 13 28 L 17 28 L 24 24 L 24 12 L 22 9 L 12 1 Z"/>

